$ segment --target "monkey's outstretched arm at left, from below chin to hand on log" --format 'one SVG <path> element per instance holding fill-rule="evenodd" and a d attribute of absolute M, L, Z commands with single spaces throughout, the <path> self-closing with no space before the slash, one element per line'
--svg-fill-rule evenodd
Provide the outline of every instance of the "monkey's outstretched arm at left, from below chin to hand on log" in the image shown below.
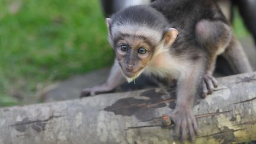
<path fill-rule="evenodd" d="M 125 79 L 121 73 L 121 69 L 119 68 L 119 63 L 117 62 L 117 60 L 115 60 L 107 81 L 104 84 L 97 85 L 92 88 L 83 89 L 81 91 L 80 97 L 87 97 L 89 95 L 95 95 L 99 93 L 112 91 L 113 89 L 119 87 L 124 82 L 125 82 Z"/>

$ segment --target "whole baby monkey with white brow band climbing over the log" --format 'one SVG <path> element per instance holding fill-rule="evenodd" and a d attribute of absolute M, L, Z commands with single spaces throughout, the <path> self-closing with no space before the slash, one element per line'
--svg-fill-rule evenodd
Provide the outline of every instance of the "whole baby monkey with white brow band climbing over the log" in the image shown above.
<path fill-rule="evenodd" d="M 215 1 L 158 0 L 126 8 L 105 21 L 116 60 L 107 81 L 83 89 L 81 95 L 111 91 L 141 73 L 177 79 L 177 104 L 169 117 L 182 140 L 189 133 L 194 141 L 199 132 L 194 97 L 205 97 L 217 87 L 212 73 L 218 55 L 226 57 L 236 73 L 252 71 Z"/>

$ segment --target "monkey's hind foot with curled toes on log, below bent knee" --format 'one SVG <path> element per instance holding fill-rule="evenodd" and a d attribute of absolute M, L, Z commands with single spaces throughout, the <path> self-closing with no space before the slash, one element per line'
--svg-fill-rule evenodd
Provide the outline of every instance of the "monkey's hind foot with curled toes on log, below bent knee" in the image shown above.
<path fill-rule="evenodd" d="M 213 89 L 217 88 L 217 81 L 212 75 L 203 76 L 203 92 L 201 97 L 205 98 L 207 94 L 212 94 Z"/>

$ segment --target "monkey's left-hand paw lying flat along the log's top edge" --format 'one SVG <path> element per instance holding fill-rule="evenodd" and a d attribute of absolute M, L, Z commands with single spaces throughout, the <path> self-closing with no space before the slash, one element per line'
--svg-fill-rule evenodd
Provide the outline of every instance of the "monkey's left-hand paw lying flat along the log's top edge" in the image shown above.
<path fill-rule="evenodd" d="M 88 97 L 90 95 L 96 95 L 104 92 L 113 90 L 112 87 L 109 87 L 108 84 L 96 85 L 92 88 L 82 89 L 80 97 Z"/>

